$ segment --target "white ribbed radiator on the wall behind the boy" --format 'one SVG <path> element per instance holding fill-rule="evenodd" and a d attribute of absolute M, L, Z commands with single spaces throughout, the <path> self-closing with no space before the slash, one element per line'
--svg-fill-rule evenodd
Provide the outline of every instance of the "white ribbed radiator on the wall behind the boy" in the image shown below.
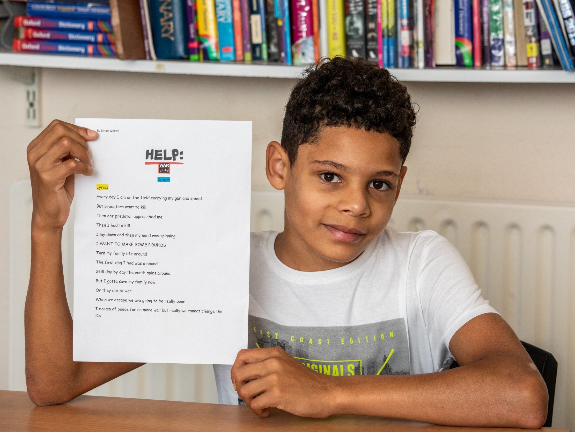
<path fill-rule="evenodd" d="M 10 389 L 24 390 L 23 310 L 29 277 L 28 181 L 14 183 L 10 199 Z M 447 237 L 471 267 L 484 296 L 519 338 L 542 347 L 559 363 L 553 425 L 575 428 L 575 207 L 460 202 L 404 196 L 390 225 L 432 229 Z M 283 194 L 252 191 L 252 230 L 281 230 Z M 63 259 L 72 302 L 72 226 L 64 229 Z M 217 401 L 209 365 L 148 364 L 102 385 L 94 395 Z"/>

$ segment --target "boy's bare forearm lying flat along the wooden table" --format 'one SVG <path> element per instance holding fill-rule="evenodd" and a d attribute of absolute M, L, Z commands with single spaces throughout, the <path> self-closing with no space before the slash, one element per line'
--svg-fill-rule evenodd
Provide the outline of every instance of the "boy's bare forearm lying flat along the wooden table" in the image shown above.
<path fill-rule="evenodd" d="M 547 414 L 545 383 L 536 370 L 521 366 L 513 359 L 484 358 L 440 373 L 332 377 L 328 398 L 333 414 L 538 428 Z"/>

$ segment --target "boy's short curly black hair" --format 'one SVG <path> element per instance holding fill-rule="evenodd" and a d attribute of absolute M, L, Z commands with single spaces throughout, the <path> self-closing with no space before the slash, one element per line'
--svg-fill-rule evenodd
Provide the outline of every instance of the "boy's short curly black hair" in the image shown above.
<path fill-rule="evenodd" d="M 407 88 L 387 69 L 363 58 L 321 59 L 292 89 L 283 117 L 282 147 L 290 165 L 298 147 L 313 144 L 324 127 L 388 133 L 409 153 L 416 112 Z"/>

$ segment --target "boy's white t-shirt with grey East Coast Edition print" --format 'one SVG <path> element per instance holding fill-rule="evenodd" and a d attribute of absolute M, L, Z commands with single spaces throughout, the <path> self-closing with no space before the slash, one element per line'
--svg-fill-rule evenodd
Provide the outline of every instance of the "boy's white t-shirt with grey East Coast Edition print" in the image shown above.
<path fill-rule="evenodd" d="M 451 336 L 496 312 L 457 249 L 433 231 L 386 228 L 353 262 L 298 271 L 275 255 L 277 232 L 252 233 L 248 348 L 279 346 L 332 376 L 447 369 Z M 214 365 L 220 403 L 243 403 L 231 366 Z"/>

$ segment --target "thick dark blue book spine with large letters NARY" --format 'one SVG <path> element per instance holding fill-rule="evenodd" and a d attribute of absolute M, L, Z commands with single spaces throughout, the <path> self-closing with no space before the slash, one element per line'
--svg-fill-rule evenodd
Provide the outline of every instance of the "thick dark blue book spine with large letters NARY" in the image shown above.
<path fill-rule="evenodd" d="M 150 24 L 158 59 L 187 58 L 187 17 L 181 0 L 150 0 Z"/>

